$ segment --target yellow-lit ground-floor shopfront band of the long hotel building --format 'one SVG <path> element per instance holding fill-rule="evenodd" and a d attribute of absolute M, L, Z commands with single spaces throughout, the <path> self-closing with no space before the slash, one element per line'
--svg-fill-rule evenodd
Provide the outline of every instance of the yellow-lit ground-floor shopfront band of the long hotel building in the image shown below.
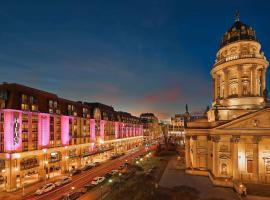
<path fill-rule="evenodd" d="M 0 190 L 13 191 L 33 182 L 50 180 L 92 162 L 107 160 L 112 154 L 125 153 L 141 146 L 142 138 L 138 136 L 99 144 L 0 154 Z"/>

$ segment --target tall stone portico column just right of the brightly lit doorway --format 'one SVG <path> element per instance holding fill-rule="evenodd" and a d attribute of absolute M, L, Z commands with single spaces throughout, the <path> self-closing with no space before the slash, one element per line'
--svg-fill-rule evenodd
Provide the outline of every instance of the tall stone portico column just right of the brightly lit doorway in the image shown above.
<path fill-rule="evenodd" d="M 259 180 L 259 142 L 261 141 L 261 136 L 253 137 L 253 180 Z"/>

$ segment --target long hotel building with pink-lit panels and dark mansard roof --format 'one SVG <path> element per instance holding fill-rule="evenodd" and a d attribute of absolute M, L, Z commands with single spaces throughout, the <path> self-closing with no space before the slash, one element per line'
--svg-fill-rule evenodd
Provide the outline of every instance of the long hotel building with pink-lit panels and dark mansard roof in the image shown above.
<path fill-rule="evenodd" d="M 44 180 L 142 145 L 139 118 L 104 104 L 3 83 L 0 105 L 0 181 L 7 191 L 27 177 Z"/>

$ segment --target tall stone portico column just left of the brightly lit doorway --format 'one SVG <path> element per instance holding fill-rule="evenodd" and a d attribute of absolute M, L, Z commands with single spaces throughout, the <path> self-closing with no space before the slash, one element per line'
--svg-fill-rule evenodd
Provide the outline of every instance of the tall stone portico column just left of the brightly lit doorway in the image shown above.
<path fill-rule="evenodd" d="M 238 170 L 238 142 L 240 141 L 240 136 L 233 136 L 231 138 L 232 142 L 232 175 L 233 179 L 239 179 L 239 170 Z"/>

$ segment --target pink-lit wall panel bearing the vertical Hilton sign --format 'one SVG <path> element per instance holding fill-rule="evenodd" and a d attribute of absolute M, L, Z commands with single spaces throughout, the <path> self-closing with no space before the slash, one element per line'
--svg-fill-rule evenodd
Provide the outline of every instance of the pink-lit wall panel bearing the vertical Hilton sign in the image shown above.
<path fill-rule="evenodd" d="M 4 113 L 4 149 L 5 151 L 20 150 L 22 147 L 22 113 L 5 110 Z M 16 121 L 15 121 L 16 120 Z M 14 142 L 15 124 L 18 127 L 18 140 Z"/>

